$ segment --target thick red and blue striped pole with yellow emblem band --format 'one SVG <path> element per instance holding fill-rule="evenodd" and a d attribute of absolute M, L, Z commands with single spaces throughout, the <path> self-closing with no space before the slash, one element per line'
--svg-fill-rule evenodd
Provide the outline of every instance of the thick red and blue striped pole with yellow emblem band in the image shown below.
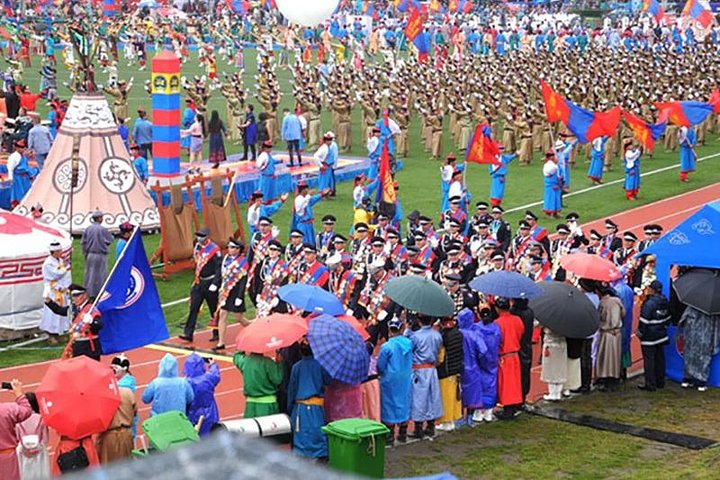
<path fill-rule="evenodd" d="M 152 59 L 153 174 L 180 173 L 180 59 L 163 50 Z"/>

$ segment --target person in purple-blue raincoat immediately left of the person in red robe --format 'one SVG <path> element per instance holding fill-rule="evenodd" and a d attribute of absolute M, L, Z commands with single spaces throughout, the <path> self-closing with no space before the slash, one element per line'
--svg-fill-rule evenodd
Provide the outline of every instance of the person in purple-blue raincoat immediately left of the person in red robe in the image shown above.
<path fill-rule="evenodd" d="M 491 422 L 493 420 L 493 409 L 497 404 L 497 378 L 498 364 L 500 359 L 500 327 L 493 322 L 493 317 L 489 309 L 485 308 L 480 311 L 481 323 L 474 325 L 483 337 L 487 351 L 482 357 L 482 361 L 478 363 L 480 369 L 480 382 L 482 384 L 482 408 L 483 420 Z"/>

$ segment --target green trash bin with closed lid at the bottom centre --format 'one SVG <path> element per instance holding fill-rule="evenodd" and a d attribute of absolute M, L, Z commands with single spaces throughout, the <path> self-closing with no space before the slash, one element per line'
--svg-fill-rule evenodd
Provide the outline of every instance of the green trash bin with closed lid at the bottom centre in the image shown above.
<path fill-rule="evenodd" d="M 370 478 L 385 476 L 385 440 L 390 430 L 364 418 L 346 418 L 322 428 L 328 436 L 330 466 Z"/>

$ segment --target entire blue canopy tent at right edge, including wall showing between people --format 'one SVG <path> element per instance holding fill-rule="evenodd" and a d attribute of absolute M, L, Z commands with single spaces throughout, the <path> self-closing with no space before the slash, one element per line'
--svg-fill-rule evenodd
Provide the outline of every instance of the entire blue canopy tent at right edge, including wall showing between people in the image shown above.
<path fill-rule="evenodd" d="M 643 255 L 655 255 L 657 279 L 663 292 L 670 296 L 670 269 L 673 265 L 720 268 L 720 200 L 709 203 L 657 242 Z M 684 377 L 683 336 L 677 328 L 668 328 L 669 344 L 665 347 L 665 372 L 677 382 Z M 708 385 L 720 387 L 720 355 L 710 364 Z"/>

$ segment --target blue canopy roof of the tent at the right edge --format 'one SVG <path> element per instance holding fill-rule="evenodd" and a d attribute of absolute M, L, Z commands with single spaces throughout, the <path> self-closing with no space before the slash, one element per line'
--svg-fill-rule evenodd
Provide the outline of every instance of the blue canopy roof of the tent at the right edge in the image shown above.
<path fill-rule="evenodd" d="M 709 203 L 663 235 L 643 255 L 655 255 L 655 273 L 670 295 L 673 265 L 720 268 L 720 200 Z"/>

